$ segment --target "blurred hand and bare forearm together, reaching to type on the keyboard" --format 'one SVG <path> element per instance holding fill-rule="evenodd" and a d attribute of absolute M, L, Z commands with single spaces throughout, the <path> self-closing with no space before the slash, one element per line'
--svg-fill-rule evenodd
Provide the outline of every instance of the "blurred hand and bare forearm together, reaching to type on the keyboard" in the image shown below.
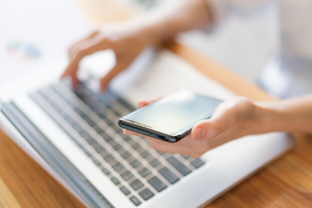
<path fill-rule="evenodd" d="M 77 86 L 80 60 L 97 51 L 112 49 L 117 64 L 101 80 L 104 90 L 109 81 L 126 69 L 146 46 L 168 41 L 179 32 L 206 26 L 211 20 L 210 7 L 203 0 L 181 1 L 178 6 L 164 4 L 153 11 L 142 12 L 134 18 L 106 26 L 103 31 L 93 32 L 70 47 L 69 64 L 62 77 L 70 76 L 73 87 Z"/>

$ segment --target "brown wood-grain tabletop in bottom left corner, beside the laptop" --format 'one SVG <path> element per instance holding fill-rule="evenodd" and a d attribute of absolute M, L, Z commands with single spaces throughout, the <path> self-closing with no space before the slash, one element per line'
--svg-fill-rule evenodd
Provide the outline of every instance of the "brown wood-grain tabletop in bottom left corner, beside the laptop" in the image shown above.
<path fill-rule="evenodd" d="M 0 208 L 84 207 L 1 131 L 0 180 Z"/>

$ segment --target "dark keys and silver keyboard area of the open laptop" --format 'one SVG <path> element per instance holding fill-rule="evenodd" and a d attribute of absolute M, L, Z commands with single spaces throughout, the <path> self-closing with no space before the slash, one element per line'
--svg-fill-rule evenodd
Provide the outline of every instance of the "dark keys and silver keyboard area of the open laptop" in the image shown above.
<path fill-rule="evenodd" d="M 158 152 L 145 139 L 124 135 L 118 118 L 135 109 L 111 91 L 97 94 L 83 84 L 72 91 L 57 82 L 30 97 L 135 206 L 205 164 L 200 158 Z"/>

